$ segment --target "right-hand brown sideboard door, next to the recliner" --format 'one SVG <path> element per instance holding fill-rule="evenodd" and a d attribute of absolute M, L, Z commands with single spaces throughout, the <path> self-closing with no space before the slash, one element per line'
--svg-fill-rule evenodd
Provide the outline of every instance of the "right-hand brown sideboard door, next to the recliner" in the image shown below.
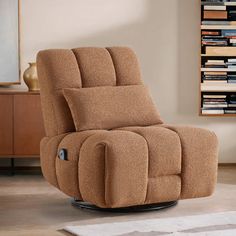
<path fill-rule="evenodd" d="M 14 95 L 14 154 L 39 155 L 39 144 L 43 136 L 40 96 Z"/>

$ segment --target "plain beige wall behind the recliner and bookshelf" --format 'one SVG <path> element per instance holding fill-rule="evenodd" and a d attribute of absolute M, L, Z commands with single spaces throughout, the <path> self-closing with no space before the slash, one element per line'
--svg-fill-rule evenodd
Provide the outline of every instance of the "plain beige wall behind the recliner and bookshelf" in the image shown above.
<path fill-rule="evenodd" d="M 22 0 L 22 70 L 40 49 L 131 46 L 163 119 L 215 131 L 220 161 L 236 162 L 236 118 L 198 116 L 199 2 Z"/>

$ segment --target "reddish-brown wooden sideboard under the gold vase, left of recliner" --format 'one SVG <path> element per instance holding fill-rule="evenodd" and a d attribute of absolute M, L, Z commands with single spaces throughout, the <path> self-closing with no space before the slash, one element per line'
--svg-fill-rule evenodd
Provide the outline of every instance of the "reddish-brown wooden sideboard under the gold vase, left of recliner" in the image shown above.
<path fill-rule="evenodd" d="M 39 92 L 0 91 L 0 158 L 39 157 L 43 136 Z"/>

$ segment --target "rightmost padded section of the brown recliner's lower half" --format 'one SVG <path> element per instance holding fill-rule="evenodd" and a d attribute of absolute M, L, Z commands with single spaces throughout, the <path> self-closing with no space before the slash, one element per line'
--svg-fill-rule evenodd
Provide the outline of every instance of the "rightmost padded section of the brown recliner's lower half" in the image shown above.
<path fill-rule="evenodd" d="M 211 195 L 217 178 L 218 141 L 216 135 L 201 128 L 166 127 L 176 132 L 181 140 L 181 198 Z"/>

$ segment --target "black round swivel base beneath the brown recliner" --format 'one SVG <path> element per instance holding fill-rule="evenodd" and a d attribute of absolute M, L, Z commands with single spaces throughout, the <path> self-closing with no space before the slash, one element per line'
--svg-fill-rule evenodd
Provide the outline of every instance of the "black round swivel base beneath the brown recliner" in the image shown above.
<path fill-rule="evenodd" d="M 175 206 L 177 204 L 177 201 L 140 205 L 140 206 L 131 206 L 131 207 L 121 207 L 121 208 L 100 208 L 88 202 L 83 202 L 83 201 L 75 200 L 75 199 L 73 199 L 71 203 L 73 206 L 81 208 L 81 209 L 105 211 L 105 212 L 117 212 L 117 213 L 131 213 L 131 212 L 163 210 L 163 209 Z"/>

